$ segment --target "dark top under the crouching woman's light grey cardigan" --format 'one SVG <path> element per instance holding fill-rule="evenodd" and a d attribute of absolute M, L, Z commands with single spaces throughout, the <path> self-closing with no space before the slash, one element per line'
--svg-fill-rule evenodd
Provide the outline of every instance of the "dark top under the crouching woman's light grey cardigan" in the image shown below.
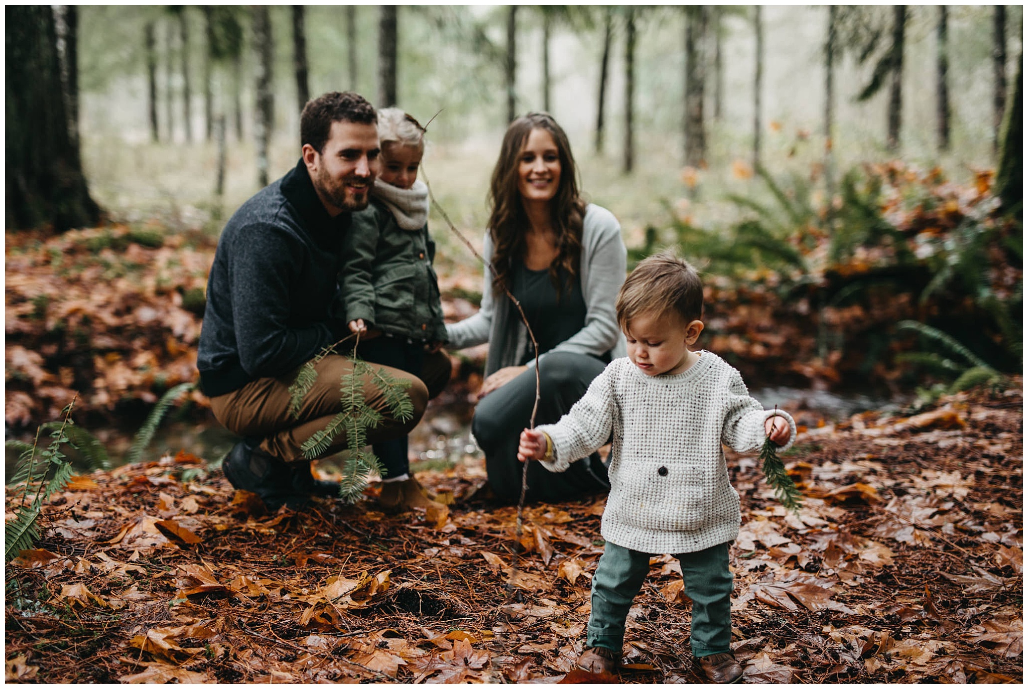
<path fill-rule="evenodd" d="M 567 280 L 567 271 L 557 270 L 561 294 L 557 299 L 557 289 L 550 280 L 549 269 L 529 270 L 524 261 L 514 261 L 511 275 L 511 294 L 521 302 L 528 325 L 539 342 L 539 353 L 545 354 L 573 336 L 585 326 L 585 297 L 582 296 L 582 281 L 575 277 Z M 568 282 L 571 284 L 568 285 Z M 536 357 L 528 340 L 527 351 L 520 359 L 525 364 Z"/>

